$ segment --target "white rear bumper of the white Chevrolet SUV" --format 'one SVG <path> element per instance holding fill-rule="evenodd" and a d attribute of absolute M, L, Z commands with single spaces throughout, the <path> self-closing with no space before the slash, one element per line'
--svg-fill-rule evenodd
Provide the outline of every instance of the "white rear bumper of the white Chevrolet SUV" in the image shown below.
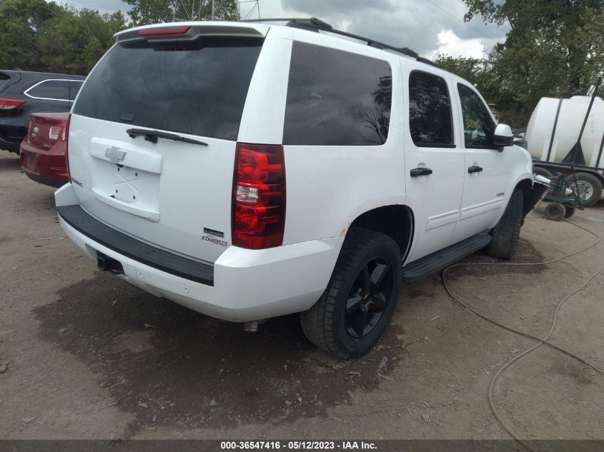
<path fill-rule="evenodd" d="M 71 184 L 56 191 L 59 221 L 67 236 L 90 258 L 96 261 L 96 253 L 100 251 L 122 264 L 124 274 L 120 277 L 134 286 L 228 321 L 252 321 L 310 308 L 325 291 L 344 241 L 344 237 L 327 238 L 264 250 L 229 246 L 214 264 L 169 253 L 130 236 L 127 237 L 138 242 L 142 249 L 132 251 L 131 243 L 120 250 L 115 243 L 109 243 L 103 233 L 93 237 L 91 230 L 108 228 L 114 233 L 121 233 L 85 211 L 82 210 L 89 217 L 86 221 L 94 225 L 88 230 L 70 224 L 61 216 L 61 211 L 66 212 L 65 207 L 81 210 L 79 206 L 61 204 L 61 201 L 74 201 L 74 196 Z M 204 274 L 211 274 L 211 281 L 208 279 L 202 283 L 183 277 L 184 273 L 181 276 L 174 274 L 166 256 L 161 259 L 164 268 L 158 268 L 157 262 L 149 258 L 149 251 L 167 253 L 176 261 L 185 259 L 192 266 L 204 267 Z M 137 253 L 142 256 L 137 256 Z"/>

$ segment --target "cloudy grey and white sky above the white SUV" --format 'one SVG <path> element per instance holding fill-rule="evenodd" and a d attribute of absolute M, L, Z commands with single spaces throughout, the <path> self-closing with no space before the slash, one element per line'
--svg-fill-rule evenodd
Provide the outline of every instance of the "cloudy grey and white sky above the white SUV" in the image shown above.
<path fill-rule="evenodd" d="M 210 0 L 197 0 L 210 1 Z M 122 0 L 69 0 L 78 8 L 113 12 L 128 5 Z M 240 4 L 242 16 L 258 17 L 253 1 Z M 254 8 L 253 11 L 250 9 Z M 463 21 L 467 10 L 461 0 L 259 0 L 267 17 L 318 17 L 335 28 L 387 44 L 406 46 L 422 56 L 444 52 L 481 58 L 508 27 L 485 25 L 480 18 Z"/>

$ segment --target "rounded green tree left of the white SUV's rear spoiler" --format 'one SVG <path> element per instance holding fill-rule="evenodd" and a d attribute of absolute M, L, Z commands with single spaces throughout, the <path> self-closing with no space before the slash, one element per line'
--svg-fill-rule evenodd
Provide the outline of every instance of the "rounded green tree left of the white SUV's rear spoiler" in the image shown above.
<path fill-rule="evenodd" d="M 121 11 L 99 14 L 91 9 L 69 9 L 41 26 L 38 47 L 46 71 L 86 75 L 114 44 L 113 35 L 126 28 Z"/>

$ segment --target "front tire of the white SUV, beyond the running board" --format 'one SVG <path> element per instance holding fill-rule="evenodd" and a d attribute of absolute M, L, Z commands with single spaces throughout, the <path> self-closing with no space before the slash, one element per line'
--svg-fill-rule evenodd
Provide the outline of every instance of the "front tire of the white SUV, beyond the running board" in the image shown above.
<path fill-rule="evenodd" d="M 503 259 L 514 256 L 520 238 L 520 227 L 523 225 L 523 207 L 523 192 L 514 189 L 499 223 L 491 229 L 492 239 L 486 248 L 489 256 Z"/>

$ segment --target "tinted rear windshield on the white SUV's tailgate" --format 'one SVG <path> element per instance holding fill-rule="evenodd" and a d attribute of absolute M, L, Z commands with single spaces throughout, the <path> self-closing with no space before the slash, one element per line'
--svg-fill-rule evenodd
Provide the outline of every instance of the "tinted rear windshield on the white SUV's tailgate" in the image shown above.
<path fill-rule="evenodd" d="M 236 140 L 261 39 L 117 44 L 86 79 L 74 114 Z"/>

